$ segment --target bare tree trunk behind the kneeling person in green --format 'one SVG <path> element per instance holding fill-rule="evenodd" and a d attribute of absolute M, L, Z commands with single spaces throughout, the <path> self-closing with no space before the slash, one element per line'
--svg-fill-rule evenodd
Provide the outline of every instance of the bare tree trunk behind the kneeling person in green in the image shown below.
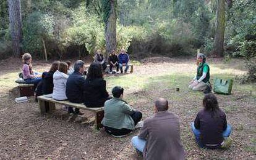
<path fill-rule="evenodd" d="M 219 57 L 223 57 L 223 43 L 224 43 L 224 31 L 225 31 L 225 0 L 217 0 L 216 10 L 216 30 L 215 41 L 213 46 L 213 54 Z"/>

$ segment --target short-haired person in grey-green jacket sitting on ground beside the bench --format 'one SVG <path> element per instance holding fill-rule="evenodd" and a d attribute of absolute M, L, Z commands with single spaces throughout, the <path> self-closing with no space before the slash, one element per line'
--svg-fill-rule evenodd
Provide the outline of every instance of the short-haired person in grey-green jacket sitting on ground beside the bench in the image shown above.
<path fill-rule="evenodd" d="M 124 89 L 116 86 L 112 90 L 113 98 L 107 100 L 104 105 L 104 118 L 101 124 L 105 131 L 113 136 L 121 137 L 134 130 L 136 124 L 142 119 L 142 113 L 135 111 L 122 100 Z"/>

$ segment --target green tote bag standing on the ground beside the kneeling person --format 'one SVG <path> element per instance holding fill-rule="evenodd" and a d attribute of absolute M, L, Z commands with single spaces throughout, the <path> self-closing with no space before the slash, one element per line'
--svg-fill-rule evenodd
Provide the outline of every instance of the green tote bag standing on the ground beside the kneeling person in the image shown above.
<path fill-rule="evenodd" d="M 217 94 L 231 94 L 233 79 L 214 79 L 213 92 Z"/>

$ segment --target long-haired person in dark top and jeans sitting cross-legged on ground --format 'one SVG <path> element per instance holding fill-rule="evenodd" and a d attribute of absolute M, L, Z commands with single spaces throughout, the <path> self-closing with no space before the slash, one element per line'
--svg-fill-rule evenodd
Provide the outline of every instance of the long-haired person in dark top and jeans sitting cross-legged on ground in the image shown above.
<path fill-rule="evenodd" d="M 197 113 L 191 123 L 195 140 L 202 148 L 226 148 L 231 144 L 228 138 L 231 126 L 227 124 L 226 114 L 219 108 L 218 100 L 213 94 L 203 98 L 203 109 Z"/>

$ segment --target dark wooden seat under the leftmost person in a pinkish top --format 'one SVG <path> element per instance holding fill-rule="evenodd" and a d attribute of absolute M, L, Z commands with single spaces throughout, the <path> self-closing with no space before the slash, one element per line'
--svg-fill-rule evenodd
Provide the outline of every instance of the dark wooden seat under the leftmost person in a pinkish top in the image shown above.
<path fill-rule="evenodd" d="M 34 84 L 25 84 L 25 81 L 22 78 L 18 78 L 15 83 L 18 84 L 20 91 L 20 97 L 23 96 L 34 96 Z"/>

